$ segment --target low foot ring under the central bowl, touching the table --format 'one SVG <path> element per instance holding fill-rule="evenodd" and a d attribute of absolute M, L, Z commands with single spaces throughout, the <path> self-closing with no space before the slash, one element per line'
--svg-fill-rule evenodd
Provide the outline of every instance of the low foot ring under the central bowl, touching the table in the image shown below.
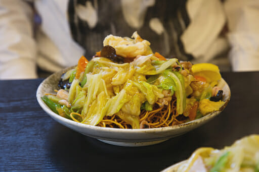
<path fill-rule="evenodd" d="M 108 143 L 108 144 L 116 145 L 116 146 L 139 147 L 139 146 L 149 146 L 149 145 L 158 144 L 158 143 L 164 142 L 168 139 L 151 141 L 151 142 L 115 142 L 115 141 L 108 141 L 108 140 L 102 140 L 102 139 L 98 139 L 98 140 L 100 140 L 104 143 Z"/>

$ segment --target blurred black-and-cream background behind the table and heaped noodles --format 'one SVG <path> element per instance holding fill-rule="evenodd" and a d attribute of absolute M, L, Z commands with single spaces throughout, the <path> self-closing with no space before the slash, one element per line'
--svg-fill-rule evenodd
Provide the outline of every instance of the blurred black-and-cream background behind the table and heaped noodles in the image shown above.
<path fill-rule="evenodd" d="M 0 0 L 0 79 L 47 77 L 134 31 L 166 58 L 259 71 L 258 18 L 258 0 Z"/>

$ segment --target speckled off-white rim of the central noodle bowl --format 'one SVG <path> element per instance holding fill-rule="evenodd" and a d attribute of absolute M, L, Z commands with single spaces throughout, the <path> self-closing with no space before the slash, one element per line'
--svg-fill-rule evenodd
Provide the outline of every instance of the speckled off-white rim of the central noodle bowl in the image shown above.
<path fill-rule="evenodd" d="M 226 84 L 227 86 L 227 90 L 229 90 L 228 92 L 228 95 L 225 95 L 224 96 L 227 96 L 227 99 L 225 99 L 225 104 L 220 108 L 220 110 L 217 110 L 217 111 L 213 111 L 209 114 L 207 114 L 206 116 L 200 118 L 200 119 L 197 119 L 197 120 L 194 120 L 194 121 L 190 121 L 190 122 L 187 122 L 187 123 L 184 123 L 184 124 L 180 124 L 180 125 L 176 125 L 176 126 L 169 126 L 169 127 L 162 127 L 162 128 L 154 128 L 154 129 L 118 129 L 118 128 L 105 128 L 105 127 L 99 127 L 99 126 L 91 126 L 91 125 L 87 125 L 87 124 L 81 124 L 81 123 L 77 123 L 77 122 L 74 122 L 72 120 L 69 120 L 69 119 L 66 119 L 64 117 L 61 117 L 59 114 L 53 112 L 46 104 L 44 101 L 41 100 L 41 96 L 42 94 L 40 93 L 41 90 L 42 90 L 42 87 L 44 84 L 46 84 L 48 82 L 48 80 L 51 80 L 52 78 L 55 78 L 55 76 L 57 75 L 59 78 L 61 77 L 61 75 L 70 70 L 70 69 L 73 69 L 73 67 L 69 67 L 69 68 L 66 68 L 64 70 L 61 70 L 59 72 L 56 72 L 52 75 L 50 75 L 48 78 L 46 78 L 44 81 L 42 81 L 38 88 L 37 88 L 37 91 L 36 91 L 36 98 L 37 98 L 37 101 L 39 103 L 39 105 L 41 106 L 42 109 L 44 109 L 52 118 L 56 118 L 56 119 L 59 119 L 61 121 L 64 121 L 70 125 L 76 125 L 77 127 L 82 127 L 82 128 L 85 128 L 85 129 L 95 129 L 95 130 L 99 130 L 99 131 L 110 131 L 110 132 L 119 132 L 119 133 L 159 133 L 159 132 L 165 132 L 165 131 L 174 131 L 174 130 L 179 130 L 179 129 L 182 129 L 182 128 L 187 128 L 188 126 L 192 126 L 192 125 L 196 125 L 198 123 L 202 123 L 204 121 L 207 121 L 207 120 L 210 120 L 212 119 L 213 117 L 217 116 L 219 113 L 221 113 L 221 111 L 227 106 L 228 102 L 230 101 L 230 96 L 231 96 L 231 92 L 230 92 L 230 88 L 229 88 L 229 85 L 226 83 L 226 81 L 222 78 L 222 81 L 224 84 Z M 58 83 L 57 83 L 58 84 Z M 93 136 L 94 137 L 94 136 Z"/>

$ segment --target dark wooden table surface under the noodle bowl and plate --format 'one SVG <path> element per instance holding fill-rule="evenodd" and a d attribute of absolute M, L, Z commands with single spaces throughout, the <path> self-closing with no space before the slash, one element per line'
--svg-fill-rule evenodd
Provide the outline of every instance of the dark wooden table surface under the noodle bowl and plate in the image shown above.
<path fill-rule="evenodd" d="M 212 121 L 157 145 L 113 146 L 66 128 L 41 109 L 43 79 L 0 81 L 0 171 L 160 171 L 198 147 L 223 148 L 259 134 L 259 72 L 223 73 L 231 89 Z"/>

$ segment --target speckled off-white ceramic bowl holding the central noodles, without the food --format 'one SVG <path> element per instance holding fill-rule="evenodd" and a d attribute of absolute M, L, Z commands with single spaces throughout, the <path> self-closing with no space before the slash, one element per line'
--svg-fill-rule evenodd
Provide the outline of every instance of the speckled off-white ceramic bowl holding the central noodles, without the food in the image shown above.
<path fill-rule="evenodd" d="M 72 67 L 71 67 L 72 68 Z M 38 86 L 36 97 L 39 105 L 44 109 L 54 120 L 60 124 L 79 132 L 85 136 L 93 137 L 101 140 L 105 143 L 119 145 L 119 146 L 147 146 L 157 144 L 168 140 L 172 137 L 176 137 L 185 134 L 204 123 L 210 121 L 212 118 L 217 116 L 227 105 L 230 100 L 230 89 L 224 79 L 220 81 L 219 86 L 224 91 L 224 106 L 219 111 L 214 111 L 207 116 L 202 117 L 198 120 L 194 120 L 185 124 L 181 124 L 173 127 L 164 127 L 156 129 L 115 129 L 115 128 L 104 128 L 97 126 L 90 126 L 86 124 L 77 123 L 66 118 L 63 118 L 53 112 L 40 97 L 46 93 L 55 93 L 54 89 L 58 89 L 58 82 L 63 72 L 68 71 L 71 68 L 64 69 L 63 71 L 57 72 L 49 76 L 47 79 L 42 81 Z"/>

